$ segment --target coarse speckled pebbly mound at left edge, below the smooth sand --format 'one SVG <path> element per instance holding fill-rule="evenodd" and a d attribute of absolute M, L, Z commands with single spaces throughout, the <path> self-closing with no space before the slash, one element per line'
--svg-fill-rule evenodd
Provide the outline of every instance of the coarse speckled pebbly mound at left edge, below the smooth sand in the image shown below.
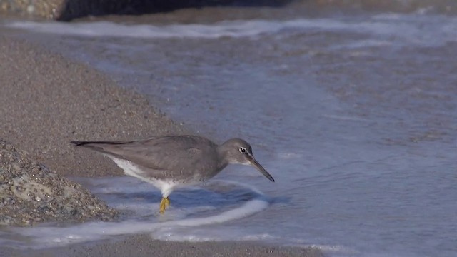
<path fill-rule="evenodd" d="M 0 226 L 111 221 L 117 211 L 0 138 Z"/>

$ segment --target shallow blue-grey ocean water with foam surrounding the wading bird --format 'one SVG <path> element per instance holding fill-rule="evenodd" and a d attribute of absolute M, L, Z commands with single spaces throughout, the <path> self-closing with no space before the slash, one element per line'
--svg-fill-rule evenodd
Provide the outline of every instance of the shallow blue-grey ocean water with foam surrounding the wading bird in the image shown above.
<path fill-rule="evenodd" d="M 147 183 L 80 179 L 123 220 L 21 228 L 11 233 L 27 243 L 7 242 L 148 232 L 317 246 L 328 256 L 457 256 L 456 16 L 261 12 L 186 23 L 4 22 L 204 136 L 246 138 L 276 179 L 231 166 L 218 181 L 173 193 L 163 217 L 151 212 L 160 196 Z"/>

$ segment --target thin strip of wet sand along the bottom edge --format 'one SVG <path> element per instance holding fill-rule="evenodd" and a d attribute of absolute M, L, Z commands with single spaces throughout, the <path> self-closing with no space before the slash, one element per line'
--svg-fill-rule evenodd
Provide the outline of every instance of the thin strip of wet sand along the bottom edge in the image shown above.
<path fill-rule="evenodd" d="M 2 251 L 1 256 L 29 256 L 29 257 L 79 257 L 79 256 L 301 256 L 322 257 L 318 248 L 298 248 L 286 246 L 266 246 L 261 242 L 173 242 L 153 240 L 147 235 L 128 236 L 116 241 L 101 241 L 79 243 L 58 248 L 40 250 Z"/>

